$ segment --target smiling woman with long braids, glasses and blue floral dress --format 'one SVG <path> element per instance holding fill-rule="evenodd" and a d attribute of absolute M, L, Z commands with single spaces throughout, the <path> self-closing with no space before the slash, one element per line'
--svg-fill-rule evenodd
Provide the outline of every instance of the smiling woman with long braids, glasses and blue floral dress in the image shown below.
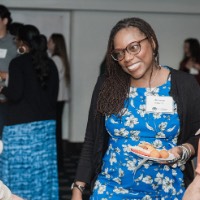
<path fill-rule="evenodd" d="M 81 200 L 86 186 L 90 200 L 182 199 L 198 146 L 197 81 L 159 65 L 157 37 L 140 18 L 113 27 L 106 67 L 93 92 L 72 200 Z M 144 142 L 173 161 L 144 163 L 130 150 Z"/>

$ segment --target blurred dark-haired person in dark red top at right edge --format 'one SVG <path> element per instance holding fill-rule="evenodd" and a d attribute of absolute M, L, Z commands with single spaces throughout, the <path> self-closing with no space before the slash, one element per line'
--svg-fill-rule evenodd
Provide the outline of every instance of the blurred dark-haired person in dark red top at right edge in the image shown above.
<path fill-rule="evenodd" d="M 184 41 L 183 59 L 179 69 L 192 74 L 200 84 L 200 44 L 196 38 L 188 38 Z"/>

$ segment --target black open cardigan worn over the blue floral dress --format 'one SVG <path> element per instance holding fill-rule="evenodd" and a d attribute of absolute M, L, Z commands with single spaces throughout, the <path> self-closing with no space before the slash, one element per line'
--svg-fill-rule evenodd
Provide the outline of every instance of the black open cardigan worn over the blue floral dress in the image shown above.
<path fill-rule="evenodd" d="M 199 135 L 195 135 L 195 133 L 200 128 L 200 87 L 193 76 L 172 68 L 170 68 L 170 71 L 170 95 L 177 103 L 180 118 L 178 145 L 190 143 L 197 152 Z M 104 76 L 100 76 L 94 88 L 85 141 L 75 177 L 75 181 L 89 184 L 91 190 L 101 171 L 102 158 L 108 147 L 109 135 L 105 128 L 105 118 L 102 115 L 96 116 L 97 98 L 104 79 Z M 193 167 L 191 160 L 189 160 L 184 170 L 185 186 L 188 186 L 193 180 L 193 176 Z"/>

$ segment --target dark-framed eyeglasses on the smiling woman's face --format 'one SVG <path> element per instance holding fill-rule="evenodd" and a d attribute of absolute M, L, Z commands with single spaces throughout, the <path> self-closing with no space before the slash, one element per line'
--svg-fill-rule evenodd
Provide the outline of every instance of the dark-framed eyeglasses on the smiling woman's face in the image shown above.
<path fill-rule="evenodd" d="M 122 61 L 124 58 L 125 58 L 125 53 L 126 51 L 129 53 L 129 54 L 132 54 L 132 55 L 136 55 L 138 54 L 140 51 L 141 51 L 141 45 L 140 43 L 144 40 L 146 40 L 147 37 L 145 37 L 144 39 L 142 40 L 139 40 L 139 41 L 134 41 L 134 42 L 131 42 L 130 44 L 128 44 L 126 46 L 125 49 L 114 49 L 112 52 L 111 52 L 111 56 L 112 58 L 115 60 L 115 61 Z"/>

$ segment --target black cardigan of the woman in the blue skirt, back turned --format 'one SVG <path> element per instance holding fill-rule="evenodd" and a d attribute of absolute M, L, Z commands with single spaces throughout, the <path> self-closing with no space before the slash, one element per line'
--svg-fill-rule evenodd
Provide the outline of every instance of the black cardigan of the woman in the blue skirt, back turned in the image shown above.
<path fill-rule="evenodd" d="M 8 99 L 5 125 L 56 119 L 58 71 L 51 59 L 48 65 L 47 87 L 43 89 L 29 53 L 10 62 L 8 87 L 2 90 Z"/>

